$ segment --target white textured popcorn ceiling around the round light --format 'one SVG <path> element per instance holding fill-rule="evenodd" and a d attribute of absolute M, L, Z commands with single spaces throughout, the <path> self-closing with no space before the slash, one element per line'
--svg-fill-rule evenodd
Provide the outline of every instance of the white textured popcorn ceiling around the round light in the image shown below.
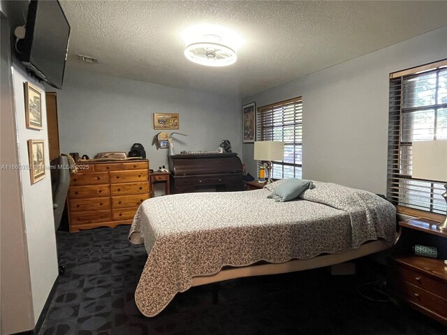
<path fill-rule="evenodd" d="M 68 65 L 170 87 L 240 97 L 447 24 L 447 1 L 68 1 Z M 193 64 L 182 31 L 237 32 L 237 62 Z M 85 54 L 100 59 L 87 64 Z"/>

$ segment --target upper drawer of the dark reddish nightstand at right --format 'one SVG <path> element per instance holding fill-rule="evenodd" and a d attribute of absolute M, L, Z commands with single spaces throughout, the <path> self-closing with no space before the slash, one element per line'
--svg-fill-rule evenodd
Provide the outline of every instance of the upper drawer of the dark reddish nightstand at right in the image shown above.
<path fill-rule="evenodd" d="M 414 271 L 395 262 L 395 271 L 399 281 L 411 283 L 418 288 L 422 288 L 428 292 L 447 299 L 447 285 L 441 281 L 437 281 L 426 274 Z"/>

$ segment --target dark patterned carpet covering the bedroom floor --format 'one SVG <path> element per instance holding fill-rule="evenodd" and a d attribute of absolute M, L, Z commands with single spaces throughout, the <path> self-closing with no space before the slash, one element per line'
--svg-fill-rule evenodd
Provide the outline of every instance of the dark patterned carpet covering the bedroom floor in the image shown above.
<path fill-rule="evenodd" d="M 66 274 L 59 276 L 43 335 L 441 335 L 446 329 L 407 308 L 358 294 L 376 276 L 358 261 L 356 276 L 330 276 L 328 269 L 241 278 L 178 294 L 154 318 L 140 314 L 133 292 L 147 258 L 127 240 L 129 226 L 79 233 L 57 232 Z M 368 286 L 363 290 L 366 294 Z M 382 298 L 382 297 L 381 297 Z"/>

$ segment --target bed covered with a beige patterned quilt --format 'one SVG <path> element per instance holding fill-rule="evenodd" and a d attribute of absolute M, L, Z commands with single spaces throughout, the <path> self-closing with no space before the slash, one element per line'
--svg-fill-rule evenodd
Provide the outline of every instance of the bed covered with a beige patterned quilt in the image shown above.
<path fill-rule="evenodd" d="M 392 246 L 390 202 L 317 181 L 293 201 L 267 198 L 279 184 L 145 200 L 129 232 L 148 254 L 135 290 L 141 313 L 157 315 L 194 285 L 324 267 Z"/>

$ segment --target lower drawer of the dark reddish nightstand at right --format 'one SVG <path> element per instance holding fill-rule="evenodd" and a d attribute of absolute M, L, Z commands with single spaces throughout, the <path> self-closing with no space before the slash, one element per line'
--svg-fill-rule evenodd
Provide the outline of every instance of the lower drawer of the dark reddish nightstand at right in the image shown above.
<path fill-rule="evenodd" d="M 430 292 L 418 288 L 418 286 L 407 283 L 401 283 L 400 292 L 402 298 L 411 301 L 419 306 L 447 318 L 447 300 L 433 295 Z"/>

